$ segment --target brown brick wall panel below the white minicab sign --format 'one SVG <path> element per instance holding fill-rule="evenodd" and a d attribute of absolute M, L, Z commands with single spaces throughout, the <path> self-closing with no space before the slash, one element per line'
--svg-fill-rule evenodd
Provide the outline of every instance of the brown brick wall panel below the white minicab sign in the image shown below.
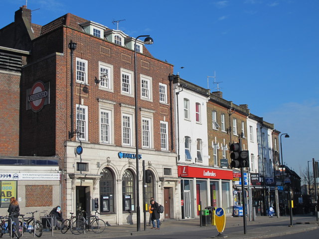
<path fill-rule="evenodd" d="M 52 185 L 26 185 L 26 207 L 49 207 L 52 203 Z"/>

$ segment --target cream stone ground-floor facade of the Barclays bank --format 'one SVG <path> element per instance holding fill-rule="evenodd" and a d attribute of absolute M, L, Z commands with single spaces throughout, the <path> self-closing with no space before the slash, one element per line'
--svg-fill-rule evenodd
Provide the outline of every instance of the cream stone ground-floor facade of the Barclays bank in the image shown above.
<path fill-rule="evenodd" d="M 91 143 L 81 143 L 83 153 L 77 155 L 75 148 L 80 142 L 65 141 L 66 149 L 66 197 L 67 197 L 67 215 L 69 212 L 75 212 L 78 209 L 77 191 L 79 187 L 85 187 L 86 210 L 94 214 L 95 199 L 99 200 L 99 211 L 101 211 L 100 179 L 102 170 L 107 168 L 113 174 L 114 210 L 109 213 L 101 213 L 100 218 L 110 225 L 132 224 L 136 222 L 136 204 L 132 203 L 130 211 L 123 209 L 123 185 L 122 177 L 125 170 L 132 171 L 134 176 L 134 185 L 136 185 L 136 159 L 120 158 L 119 152 L 135 154 L 134 147 L 117 147 L 112 145 L 101 145 Z M 164 205 L 164 190 L 169 193 L 169 215 L 170 218 L 180 220 L 180 180 L 177 179 L 176 154 L 171 152 L 162 152 L 155 150 L 139 149 L 139 155 L 142 158 L 139 161 L 139 188 L 140 188 L 140 209 L 141 223 L 144 222 L 143 209 L 143 161 L 145 169 L 152 171 L 152 186 L 154 197 L 157 202 Z M 77 171 L 77 162 L 89 163 L 88 171 Z M 164 168 L 171 170 L 171 175 L 164 175 Z M 135 190 L 136 200 L 136 190 Z M 83 200 L 82 200 L 83 201 Z M 136 202 L 136 201 L 135 201 Z M 164 212 L 161 214 L 161 220 L 164 219 Z M 149 213 L 147 212 L 147 223 Z"/>

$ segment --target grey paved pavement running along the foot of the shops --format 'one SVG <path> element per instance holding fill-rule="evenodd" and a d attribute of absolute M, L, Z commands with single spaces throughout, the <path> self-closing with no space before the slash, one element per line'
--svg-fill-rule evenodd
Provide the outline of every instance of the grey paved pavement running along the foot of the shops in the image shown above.
<path fill-rule="evenodd" d="M 243 218 L 227 217 L 223 234 L 229 239 L 262 239 L 319 229 L 315 216 L 294 216 L 293 227 L 289 226 L 290 217 L 269 218 L 259 216 L 255 218 L 255 221 L 249 222 L 247 219 L 247 233 L 244 234 Z M 209 232 L 210 230 L 211 233 Z M 207 235 L 211 235 L 204 237 L 204 239 L 218 238 L 216 237 L 218 232 L 215 226 L 200 227 L 199 219 L 190 219 L 181 221 L 164 220 L 160 230 L 151 230 L 151 227 L 147 227 L 144 230 L 144 224 L 141 224 L 141 231 L 139 232 L 137 232 L 136 224 L 108 226 L 102 234 L 89 232 L 87 234 L 72 235 L 71 232 L 61 234 L 60 231 L 56 230 L 53 233 L 53 237 L 51 236 L 51 232 L 43 232 L 41 239 L 107 239 L 142 235 L 173 235 L 197 231 L 205 231 Z M 4 239 L 5 237 L 3 235 Z M 33 235 L 25 233 L 23 238 L 32 239 Z"/>

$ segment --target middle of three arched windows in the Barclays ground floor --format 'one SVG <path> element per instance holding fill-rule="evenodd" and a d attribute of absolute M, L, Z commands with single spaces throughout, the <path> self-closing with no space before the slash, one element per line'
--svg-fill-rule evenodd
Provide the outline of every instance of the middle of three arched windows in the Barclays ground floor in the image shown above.
<path fill-rule="evenodd" d="M 122 177 L 122 192 L 123 192 L 123 211 L 128 211 L 128 206 L 131 206 L 132 211 L 136 211 L 135 205 L 135 186 L 134 186 L 134 177 L 131 170 L 126 169 Z M 131 203 L 131 205 L 127 205 Z"/>

